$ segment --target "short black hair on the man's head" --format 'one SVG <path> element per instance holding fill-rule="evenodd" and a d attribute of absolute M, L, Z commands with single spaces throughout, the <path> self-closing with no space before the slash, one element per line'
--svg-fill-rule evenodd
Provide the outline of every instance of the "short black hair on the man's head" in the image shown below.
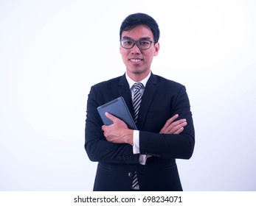
<path fill-rule="evenodd" d="M 122 38 L 123 31 L 129 31 L 139 25 L 148 26 L 153 33 L 153 40 L 155 41 L 155 43 L 159 41 L 159 26 L 150 15 L 147 15 L 145 13 L 134 13 L 128 15 L 128 17 L 126 17 L 125 20 L 122 21 L 122 25 L 120 26 L 120 39 Z"/>

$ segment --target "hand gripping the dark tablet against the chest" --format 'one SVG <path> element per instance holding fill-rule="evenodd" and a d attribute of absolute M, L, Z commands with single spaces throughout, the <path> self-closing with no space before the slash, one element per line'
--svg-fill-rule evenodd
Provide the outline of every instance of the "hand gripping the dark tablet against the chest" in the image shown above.
<path fill-rule="evenodd" d="M 106 140 L 112 143 L 129 143 L 134 145 L 133 130 L 128 129 L 124 121 L 110 113 L 105 113 L 105 116 L 113 121 L 113 124 L 101 127 Z"/>

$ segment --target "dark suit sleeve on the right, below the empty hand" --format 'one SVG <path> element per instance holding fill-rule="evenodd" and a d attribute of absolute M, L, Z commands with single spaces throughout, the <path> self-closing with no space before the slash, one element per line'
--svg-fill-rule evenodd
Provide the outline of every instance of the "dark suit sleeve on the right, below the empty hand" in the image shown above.
<path fill-rule="evenodd" d="M 167 107 L 171 107 L 171 116 L 179 114 L 179 118 L 186 118 L 187 126 L 179 135 L 159 134 L 159 131 L 139 131 L 140 154 L 150 154 L 162 158 L 189 159 L 193 154 L 195 132 L 190 102 L 184 86 L 179 89 L 179 92 L 168 103 Z"/>

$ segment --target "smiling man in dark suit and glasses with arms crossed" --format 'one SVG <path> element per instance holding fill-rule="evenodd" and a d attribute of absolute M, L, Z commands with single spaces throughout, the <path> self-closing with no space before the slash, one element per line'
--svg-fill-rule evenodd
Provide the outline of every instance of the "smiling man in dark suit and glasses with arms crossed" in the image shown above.
<path fill-rule="evenodd" d="M 158 52 L 156 21 L 143 13 L 125 18 L 120 54 L 126 72 L 92 86 L 88 96 L 85 149 L 91 161 L 99 162 L 94 191 L 182 191 L 176 158 L 193 154 L 193 119 L 184 86 L 151 72 Z M 142 83 L 139 93 L 136 82 Z M 142 99 L 134 111 L 136 95 Z M 97 107 L 119 96 L 138 130 L 110 113 L 105 115 L 114 123 L 103 125 Z"/>

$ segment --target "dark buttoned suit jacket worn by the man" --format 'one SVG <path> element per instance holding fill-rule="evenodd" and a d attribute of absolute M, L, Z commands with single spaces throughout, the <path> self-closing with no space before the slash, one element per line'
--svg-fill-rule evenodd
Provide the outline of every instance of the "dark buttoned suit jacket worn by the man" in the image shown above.
<path fill-rule="evenodd" d="M 182 191 L 176 158 L 193 154 L 195 134 L 190 102 L 183 85 L 151 74 L 142 96 L 137 127 L 140 154 L 150 154 L 145 166 L 127 143 L 105 140 L 97 107 L 122 96 L 133 115 L 131 90 L 125 75 L 91 87 L 86 115 L 85 149 L 91 161 L 99 162 L 94 191 L 131 191 L 134 171 L 140 191 Z M 168 118 L 179 114 L 187 119 L 180 135 L 159 134 Z"/>

